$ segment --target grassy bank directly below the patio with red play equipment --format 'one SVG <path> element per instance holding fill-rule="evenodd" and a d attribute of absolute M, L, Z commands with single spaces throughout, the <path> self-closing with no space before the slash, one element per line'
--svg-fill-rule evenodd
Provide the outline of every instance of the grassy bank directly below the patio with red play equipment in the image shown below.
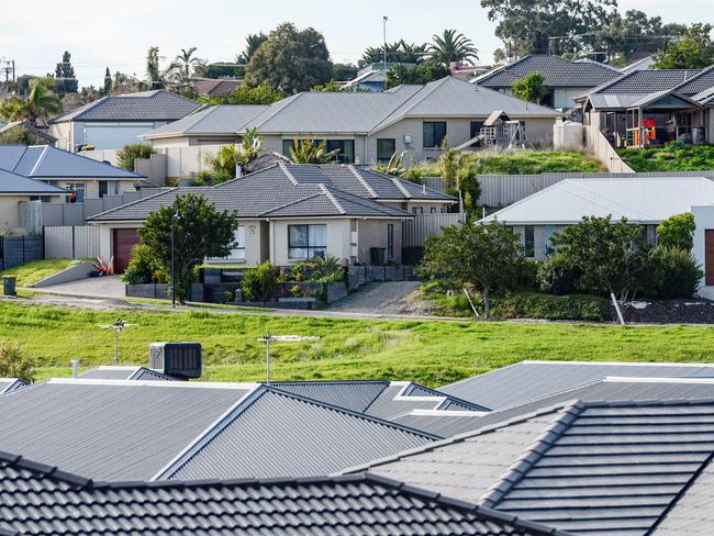
<path fill-rule="evenodd" d="M 635 171 L 702 171 L 714 169 L 714 145 L 668 144 L 617 152 Z"/>

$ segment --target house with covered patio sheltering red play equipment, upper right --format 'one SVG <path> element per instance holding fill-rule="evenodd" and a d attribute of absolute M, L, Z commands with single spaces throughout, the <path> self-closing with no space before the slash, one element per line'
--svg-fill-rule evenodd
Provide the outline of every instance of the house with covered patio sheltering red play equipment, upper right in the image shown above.
<path fill-rule="evenodd" d="M 614 147 L 656 147 L 668 142 L 714 141 L 709 99 L 714 66 L 705 69 L 634 70 L 576 98 L 584 123 Z"/>

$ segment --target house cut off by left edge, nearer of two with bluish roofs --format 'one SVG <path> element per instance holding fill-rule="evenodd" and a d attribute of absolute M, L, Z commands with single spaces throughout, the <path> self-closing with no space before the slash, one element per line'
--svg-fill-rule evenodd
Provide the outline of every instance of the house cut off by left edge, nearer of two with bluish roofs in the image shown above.
<path fill-rule="evenodd" d="M 62 202 L 68 196 L 67 190 L 56 186 L 0 169 L 0 234 L 25 228 L 22 202 Z"/>

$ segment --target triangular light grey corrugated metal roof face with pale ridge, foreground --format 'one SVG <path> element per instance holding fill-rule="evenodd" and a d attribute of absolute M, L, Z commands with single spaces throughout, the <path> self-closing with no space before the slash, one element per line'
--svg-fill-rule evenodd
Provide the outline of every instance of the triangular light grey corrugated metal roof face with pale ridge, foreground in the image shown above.
<path fill-rule="evenodd" d="M 437 438 L 264 386 L 156 479 L 327 474 Z"/>

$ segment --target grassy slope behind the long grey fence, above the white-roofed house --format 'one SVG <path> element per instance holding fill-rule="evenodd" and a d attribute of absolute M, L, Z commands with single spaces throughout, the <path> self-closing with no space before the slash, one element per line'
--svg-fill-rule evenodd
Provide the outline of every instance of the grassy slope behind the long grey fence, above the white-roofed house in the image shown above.
<path fill-rule="evenodd" d="M 546 172 L 598 172 L 602 164 L 585 153 L 557 150 L 484 150 L 476 153 L 477 175 L 537 175 Z M 425 164 L 410 169 L 410 176 L 438 177 L 438 164 Z"/>

